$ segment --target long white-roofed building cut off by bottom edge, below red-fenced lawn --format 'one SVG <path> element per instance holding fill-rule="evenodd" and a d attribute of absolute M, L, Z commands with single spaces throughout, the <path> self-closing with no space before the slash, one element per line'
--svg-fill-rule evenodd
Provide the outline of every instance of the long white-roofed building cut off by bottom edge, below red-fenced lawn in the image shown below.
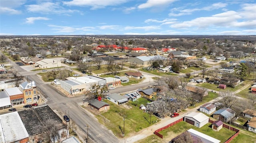
<path fill-rule="evenodd" d="M 184 138 L 186 136 L 185 133 L 189 133 L 191 135 L 192 141 L 190 141 L 190 143 L 220 143 L 220 140 L 210 137 L 209 135 L 206 135 L 194 129 L 189 129 L 184 133 L 178 135 L 177 137 L 174 137 L 172 141 L 169 141 L 169 143 L 180 143 L 180 142 L 175 142 L 175 140 L 180 137 Z"/>

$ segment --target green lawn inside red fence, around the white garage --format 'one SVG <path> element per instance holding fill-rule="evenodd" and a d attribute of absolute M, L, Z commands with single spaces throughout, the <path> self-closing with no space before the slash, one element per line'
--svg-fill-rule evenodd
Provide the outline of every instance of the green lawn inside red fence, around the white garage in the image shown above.
<path fill-rule="evenodd" d="M 194 125 L 181 121 L 180 123 L 177 123 L 172 127 L 160 131 L 160 134 L 162 134 L 163 138 L 165 138 L 171 134 L 179 135 L 180 133 L 183 133 L 184 131 L 192 128 L 196 131 L 200 131 L 201 133 L 204 133 L 206 135 L 209 135 L 210 137 L 214 137 L 215 139 L 220 140 L 221 143 L 224 143 L 224 141 L 226 141 L 228 138 L 230 138 L 232 135 L 236 133 L 235 131 L 228 131 L 228 129 L 226 128 L 222 128 L 220 131 L 213 131 L 212 128 L 209 127 L 210 125 L 211 123 L 207 123 L 203 127 L 198 128 Z"/>

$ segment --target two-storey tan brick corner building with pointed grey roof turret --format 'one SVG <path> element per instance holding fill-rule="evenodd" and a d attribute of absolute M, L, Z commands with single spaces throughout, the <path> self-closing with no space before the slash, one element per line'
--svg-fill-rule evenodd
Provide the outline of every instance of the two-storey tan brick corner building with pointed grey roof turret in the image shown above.
<path fill-rule="evenodd" d="M 24 103 L 37 102 L 38 100 L 38 92 L 36 88 L 36 82 L 23 82 L 19 85 L 20 91 L 24 94 Z"/>

